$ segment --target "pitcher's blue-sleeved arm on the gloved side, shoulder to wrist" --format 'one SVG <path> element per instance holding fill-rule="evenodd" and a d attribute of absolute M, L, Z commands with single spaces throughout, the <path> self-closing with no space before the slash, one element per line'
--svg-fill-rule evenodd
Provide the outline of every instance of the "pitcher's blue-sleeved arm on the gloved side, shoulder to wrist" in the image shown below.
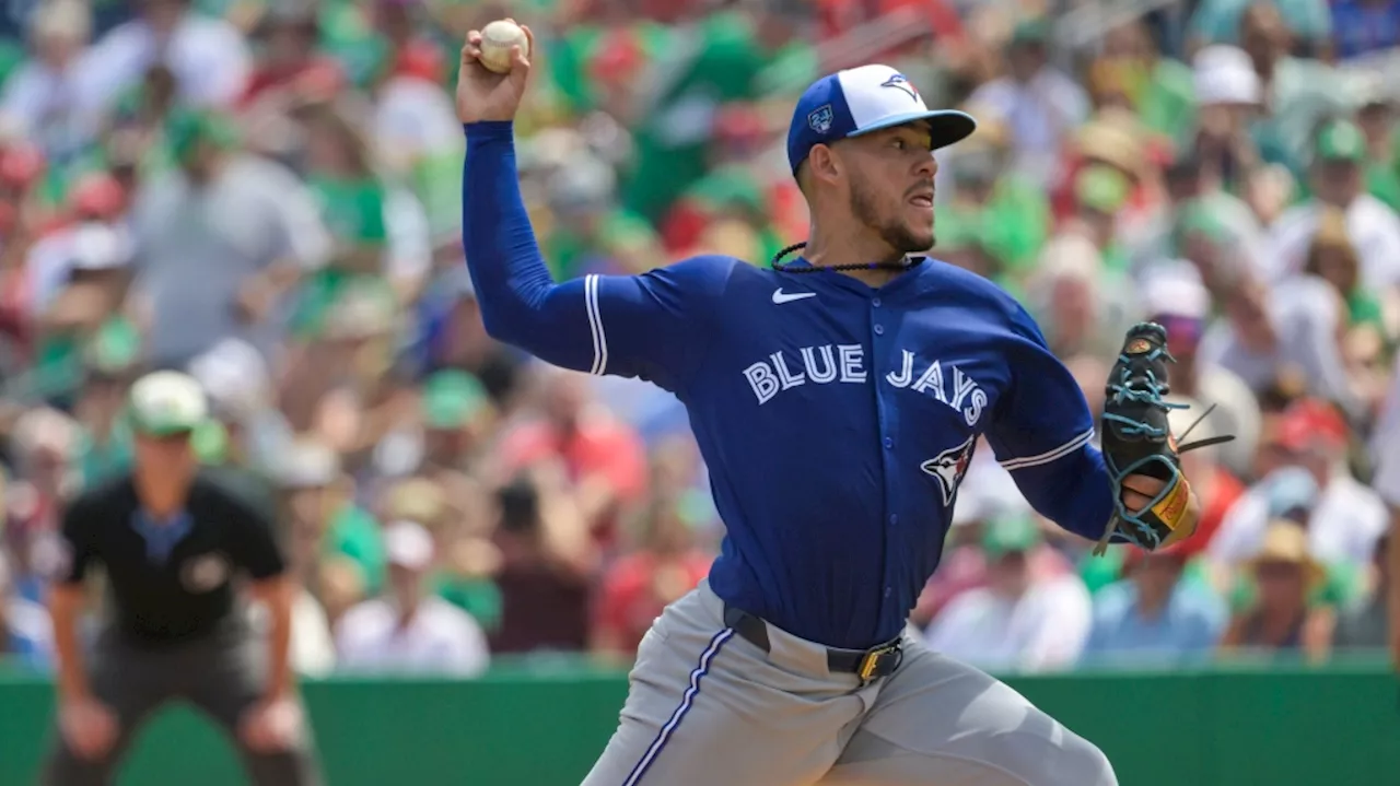
<path fill-rule="evenodd" d="M 1012 382 L 991 413 L 987 442 L 1036 512 L 1099 540 L 1114 513 L 1114 487 L 1092 445 L 1089 403 L 1029 315 L 1012 315 Z"/>

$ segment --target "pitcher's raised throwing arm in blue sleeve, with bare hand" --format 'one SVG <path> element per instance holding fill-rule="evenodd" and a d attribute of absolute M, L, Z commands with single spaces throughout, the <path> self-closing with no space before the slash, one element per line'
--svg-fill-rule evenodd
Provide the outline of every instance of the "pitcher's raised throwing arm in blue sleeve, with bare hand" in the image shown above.
<path fill-rule="evenodd" d="M 587 276 L 556 284 L 539 252 L 515 168 L 514 116 L 529 63 L 498 76 L 479 62 L 473 31 L 456 88 L 466 133 L 462 245 L 486 330 L 550 364 L 640 376 L 678 390 L 713 331 L 706 302 L 732 264 L 697 257 L 643 276 Z"/>

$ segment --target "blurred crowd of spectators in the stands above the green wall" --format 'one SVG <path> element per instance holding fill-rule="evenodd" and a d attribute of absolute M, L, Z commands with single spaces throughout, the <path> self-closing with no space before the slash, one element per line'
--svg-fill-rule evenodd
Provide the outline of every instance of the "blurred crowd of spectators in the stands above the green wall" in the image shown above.
<path fill-rule="evenodd" d="M 706 575 L 680 404 L 482 327 L 451 91 L 507 15 L 536 35 L 517 138 L 559 278 L 767 264 L 806 232 L 795 97 L 883 62 L 980 122 L 938 154 L 937 256 L 1022 299 L 1091 406 L 1123 330 L 1168 326 L 1177 434 L 1235 435 L 1183 459 L 1200 533 L 1091 558 L 979 450 L 911 617 L 932 646 L 1001 671 L 1386 646 L 1400 0 L 21 0 L 0 652 L 48 667 L 63 501 L 130 460 L 151 368 L 206 387 L 204 462 L 276 487 L 307 674 L 626 664 Z"/>

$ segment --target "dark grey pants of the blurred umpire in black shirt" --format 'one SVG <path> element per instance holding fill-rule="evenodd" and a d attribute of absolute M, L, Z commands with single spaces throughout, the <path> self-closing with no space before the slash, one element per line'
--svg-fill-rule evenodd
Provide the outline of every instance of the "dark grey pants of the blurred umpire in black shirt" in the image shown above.
<path fill-rule="evenodd" d="M 169 649 L 137 649 L 115 631 L 104 631 L 87 655 L 88 687 L 94 698 L 116 715 L 118 741 L 101 759 L 85 759 L 69 750 L 63 734 L 53 731 L 53 748 L 45 762 L 43 786 L 106 786 L 116 782 L 122 758 L 141 724 L 171 701 L 188 701 L 218 723 L 238 748 L 253 786 L 316 786 L 309 729 L 297 750 L 262 754 L 238 738 L 238 723 L 262 696 L 267 684 L 266 645 L 241 625 Z"/>

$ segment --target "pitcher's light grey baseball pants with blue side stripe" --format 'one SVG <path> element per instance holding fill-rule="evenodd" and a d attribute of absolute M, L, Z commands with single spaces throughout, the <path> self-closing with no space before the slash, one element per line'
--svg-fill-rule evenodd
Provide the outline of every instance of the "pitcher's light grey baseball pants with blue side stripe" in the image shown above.
<path fill-rule="evenodd" d="M 904 636 L 861 685 L 826 648 L 724 624 L 707 583 L 643 639 L 617 731 L 584 786 L 1116 786 L 1107 758 L 1021 694 Z"/>

